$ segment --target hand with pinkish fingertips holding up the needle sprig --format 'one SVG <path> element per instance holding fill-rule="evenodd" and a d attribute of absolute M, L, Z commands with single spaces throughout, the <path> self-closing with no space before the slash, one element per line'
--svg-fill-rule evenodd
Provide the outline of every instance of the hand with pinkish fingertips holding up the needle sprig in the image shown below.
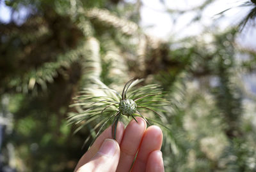
<path fill-rule="evenodd" d="M 126 129 L 118 122 L 116 141 L 111 139 L 111 126 L 108 127 L 81 157 L 75 171 L 129 171 L 137 152 L 131 171 L 164 171 L 161 129 L 156 125 L 146 129 L 143 118 L 136 120 L 138 123 L 132 120 Z"/>

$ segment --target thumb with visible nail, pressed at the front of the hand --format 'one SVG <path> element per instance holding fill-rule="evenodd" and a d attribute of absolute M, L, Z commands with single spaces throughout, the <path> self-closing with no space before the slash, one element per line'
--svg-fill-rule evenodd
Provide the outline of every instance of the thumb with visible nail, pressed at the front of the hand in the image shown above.
<path fill-rule="evenodd" d="M 120 147 L 113 139 L 106 139 L 102 143 L 97 154 L 86 164 L 81 166 L 77 171 L 116 171 L 120 157 Z"/>

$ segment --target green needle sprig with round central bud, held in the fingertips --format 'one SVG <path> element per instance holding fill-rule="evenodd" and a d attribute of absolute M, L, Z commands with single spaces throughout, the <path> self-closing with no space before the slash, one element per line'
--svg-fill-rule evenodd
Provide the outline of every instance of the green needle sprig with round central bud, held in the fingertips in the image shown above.
<path fill-rule="evenodd" d="M 121 117 L 132 117 L 136 120 L 135 117 L 140 116 L 149 124 L 150 118 L 144 117 L 140 110 L 149 110 L 157 117 L 161 117 L 162 106 L 166 105 L 168 101 L 164 100 L 163 92 L 157 84 L 134 87 L 142 81 L 139 79 L 129 80 L 125 84 L 122 94 L 119 94 L 99 80 L 95 80 L 94 82 L 99 87 L 81 91 L 81 95 L 77 96 L 75 103 L 71 105 L 77 108 L 78 113 L 71 114 L 68 121 L 80 125 L 77 131 L 94 120 L 98 121 L 92 129 L 97 131 L 94 138 L 97 138 L 111 122 L 113 139 L 116 139 L 116 127 Z"/>

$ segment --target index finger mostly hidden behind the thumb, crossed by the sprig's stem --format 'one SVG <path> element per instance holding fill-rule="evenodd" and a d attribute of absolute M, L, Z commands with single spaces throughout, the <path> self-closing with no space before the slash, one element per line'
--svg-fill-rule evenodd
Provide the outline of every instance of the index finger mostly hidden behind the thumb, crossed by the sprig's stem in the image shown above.
<path fill-rule="evenodd" d="M 118 122 L 116 127 L 116 141 L 120 144 L 122 137 L 124 134 L 124 124 L 122 122 Z M 95 140 L 92 147 L 81 157 L 79 162 L 77 163 L 75 171 L 86 164 L 92 157 L 98 152 L 100 146 L 106 138 L 112 138 L 112 127 L 109 126 L 100 136 Z"/>

